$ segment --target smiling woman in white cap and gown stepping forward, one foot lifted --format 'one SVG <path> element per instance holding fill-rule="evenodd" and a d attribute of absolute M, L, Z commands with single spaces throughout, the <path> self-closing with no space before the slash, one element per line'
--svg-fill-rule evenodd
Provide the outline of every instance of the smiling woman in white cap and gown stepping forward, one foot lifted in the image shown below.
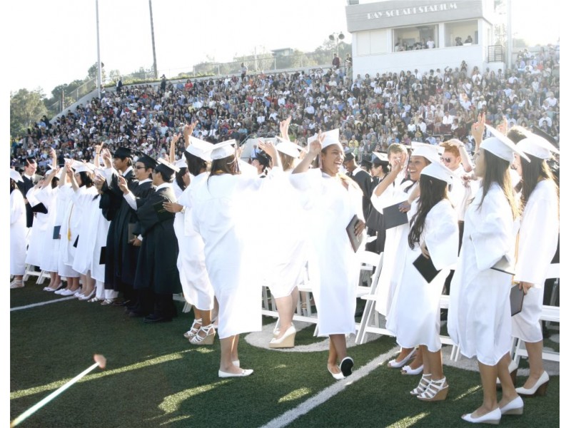
<path fill-rule="evenodd" d="M 310 270 L 310 280 L 319 335 L 330 339 L 328 371 L 334 379 L 343 379 L 351 374 L 354 364 L 347 355 L 345 336 L 355 332 L 355 290 L 360 271 L 346 228 L 356 216 L 353 233 L 360 235 L 365 230 L 363 193 L 355 181 L 339 173 L 344 153 L 338 129 L 308 138 L 308 143 L 309 151 L 290 180 L 303 193 L 303 205 L 310 210 L 309 244 L 317 265 Z M 317 156 L 321 167 L 310 170 Z"/>

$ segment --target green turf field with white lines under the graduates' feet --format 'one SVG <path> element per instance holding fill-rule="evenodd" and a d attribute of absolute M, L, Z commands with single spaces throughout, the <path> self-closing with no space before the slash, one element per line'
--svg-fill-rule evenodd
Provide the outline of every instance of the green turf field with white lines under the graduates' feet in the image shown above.
<path fill-rule="evenodd" d="M 10 292 L 11 308 L 56 301 L 10 314 L 10 419 L 91 366 L 94 354 L 104 355 L 107 367 L 88 374 L 21 427 L 467 427 L 460 416 L 481 403 L 479 374 L 448 365 L 444 402 L 410 396 L 420 377 L 386 367 L 398 352 L 392 337 L 350 348 L 353 375 L 337 382 L 327 371 L 326 350 L 269 350 L 242 335 L 241 367 L 254 373 L 219 379 L 218 339 L 210 347 L 193 347 L 183 337 L 192 313 L 148 325 L 129 318 L 123 307 L 64 300 L 42 287 L 29 280 Z M 273 321 L 264 318 L 266 324 Z M 296 337 L 297 345 L 318 342 L 323 338 L 313 337 L 311 327 Z M 520 367 L 527 367 L 525 360 Z M 518 377 L 517 386 L 524 380 Z M 524 414 L 503 417 L 500 424 L 559 426 L 559 383 L 552 376 L 545 397 L 525 399 Z"/>

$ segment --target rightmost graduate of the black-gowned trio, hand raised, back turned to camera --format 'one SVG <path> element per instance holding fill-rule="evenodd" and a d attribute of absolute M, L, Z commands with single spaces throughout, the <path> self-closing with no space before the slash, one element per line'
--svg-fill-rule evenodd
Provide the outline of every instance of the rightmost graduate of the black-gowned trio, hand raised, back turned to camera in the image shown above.
<path fill-rule="evenodd" d="M 163 207 L 164 203 L 176 202 L 172 182 L 178 168 L 163 159 L 158 163 L 153 170 L 156 190 L 146 199 L 135 198 L 126 180 L 119 179 L 125 198 L 135 199 L 137 203 L 143 241 L 138 255 L 135 289 L 146 289 L 148 292 L 143 295 L 153 299 L 153 313 L 144 318 L 148 323 L 172 321 L 176 316 L 173 294 L 182 292 L 176 267 L 178 241 L 174 232 L 174 213 Z"/>

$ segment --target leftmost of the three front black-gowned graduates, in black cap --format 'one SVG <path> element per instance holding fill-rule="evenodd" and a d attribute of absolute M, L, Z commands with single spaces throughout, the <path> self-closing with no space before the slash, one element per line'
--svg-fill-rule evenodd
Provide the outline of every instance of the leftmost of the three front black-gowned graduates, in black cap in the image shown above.
<path fill-rule="evenodd" d="M 118 186 L 118 178 L 126 180 L 129 190 L 135 190 L 138 180 L 133 173 L 133 153 L 128 148 L 120 147 L 113 153 L 103 150 L 106 182 L 101 188 L 100 208 L 107 220 L 110 220 L 105 253 L 105 288 L 123 293 L 123 300 L 116 304 L 129 305 L 134 302 L 135 271 L 137 254 L 133 246 L 135 228 L 135 211 L 123 198 Z M 131 242 L 130 242 L 131 241 Z"/>

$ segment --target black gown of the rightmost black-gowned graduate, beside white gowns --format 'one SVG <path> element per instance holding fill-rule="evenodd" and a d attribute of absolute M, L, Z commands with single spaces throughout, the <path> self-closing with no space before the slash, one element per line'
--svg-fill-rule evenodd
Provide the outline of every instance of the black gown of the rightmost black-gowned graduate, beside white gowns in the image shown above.
<path fill-rule="evenodd" d="M 163 210 L 164 202 L 176 202 L 172 188 L 161 188 L 146 200 L 137 200 L 143 245 L 138 255 L 134 288 L 175 294 L 182 292 L 176 267 L 178 241 L 174 233 L 174 213 Z"/>

